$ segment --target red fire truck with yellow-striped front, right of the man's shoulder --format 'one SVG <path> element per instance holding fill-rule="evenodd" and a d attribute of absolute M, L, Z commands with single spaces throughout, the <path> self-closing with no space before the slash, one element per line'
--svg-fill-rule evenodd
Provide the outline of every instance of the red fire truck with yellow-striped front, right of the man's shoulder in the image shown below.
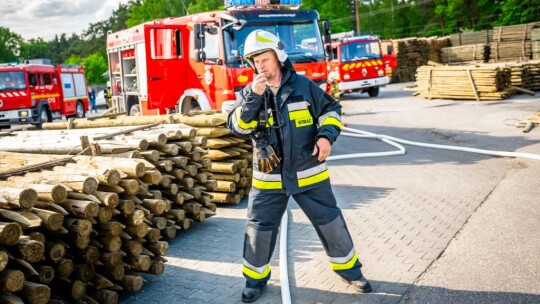
<path fill-rule="evenodd" d="M 390 82 L 392 68 L 384 60 L 381 42 L 375 36 L 346 37 L 332 43 L 329 71 L 337 74 L 340 93 L 367 92 L 379 95 L 379 87 Z"/>

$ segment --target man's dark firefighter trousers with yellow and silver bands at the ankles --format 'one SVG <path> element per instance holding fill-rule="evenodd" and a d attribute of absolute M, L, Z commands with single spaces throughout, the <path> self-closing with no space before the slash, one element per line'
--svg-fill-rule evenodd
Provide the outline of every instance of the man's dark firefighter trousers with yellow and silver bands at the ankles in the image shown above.
<path fill-rule="evenodd" d="M 285 190 L 251 189 L 242 268 L 246 287 L 262 288 L 270 279 L 270 259 L 289 196 Z M 360 279 L 362 264 L 331 186 L 294 194 L 293 198 L 315 227 L 332 270 L 347 281 Z"/>

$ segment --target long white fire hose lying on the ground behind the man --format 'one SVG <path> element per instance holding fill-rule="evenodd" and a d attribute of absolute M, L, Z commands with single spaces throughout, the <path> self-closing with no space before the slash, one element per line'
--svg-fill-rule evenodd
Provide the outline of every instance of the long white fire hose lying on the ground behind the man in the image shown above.
<path fill-rule="evenodd" d="M 411 145 L 424 148 L 432 149 L 443 149 L 443 150 L 452 150 L 452 151 L 462 151 L 462 152 L 471 152 L 484 155 L 492 156 L 502 156 L 502 157 L 515 157 L 515 158 L 529 158 L 540 160 L 539 154 L 532 153 L 522 153 L 522 152 L 506 152 L 506 151 L 493 151 L 485 149 L 476 149 L 476 148 L 467 148 L 460 146 L 450 146 L 450 145 L 439 145 L 439 144 L 428 144 L 421 143 L 416 141 L 403 140 L 396 137 L 370 133 L 367 131 L 356 130 L 348 127 L 343 127 L 341 135 L 351 136 L 357 138 L 368 138 L 368 139 L 379 139 L 393 147 L 396 147 L 397 150 L 386 151 L 386 152 L 371 152 L 371 153 L 351 153 L 344 155 L 330 156 L 327 160 L 340 160 L 340 159 L 350 159 L 350 158 L 363 158 L 363 157 L 378 157 L 378 156 L 392 156 L 392 155 L 401 155 L 405 154 L 404 145 Z M 281 228 L 280 228 L 280 237 L 279 237 L 279 273 L 280 273 L 280 282 L 281 282 L 281 301 L 284 304 L 290 304 L 291 302 L 291 293 L 289 288 L 289 274 L 287 271 L 287 224 L 288 224 L 288 210 L 285 211 L 281 219 Z"/>

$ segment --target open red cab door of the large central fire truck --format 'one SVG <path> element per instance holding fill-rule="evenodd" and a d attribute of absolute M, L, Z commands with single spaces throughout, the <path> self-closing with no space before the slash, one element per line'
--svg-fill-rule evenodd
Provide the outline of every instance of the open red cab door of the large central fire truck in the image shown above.
<path fill-rule="evenodd" d="M 174 109 L 182 95 L 188 72 L 185 43 L 189 32 L 185 26 L 149 25 L 145 27 L 148 109 Z M 143 105 L 144 107 L 144 105 Z M 143 110 L 144 112 L 144 110 Z"/>

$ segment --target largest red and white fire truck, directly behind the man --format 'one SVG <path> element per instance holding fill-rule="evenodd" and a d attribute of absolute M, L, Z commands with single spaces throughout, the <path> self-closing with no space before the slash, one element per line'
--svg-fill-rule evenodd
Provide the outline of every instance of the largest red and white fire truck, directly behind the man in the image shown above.
<path fill-rule="evenodd" d="M 221 109 L 252 81 L 242 60 L 255 29 L 276 34 L 297 72 L 326 86 L 319 14 L 300 0 L 226 0 L 227 10 L 147 22 L 109 33 L 113 104 L 130 115 Z M 291 6 L 292 4 L 292 6 Z M 330 41 L 328 22 L 323 23 Z"/>

